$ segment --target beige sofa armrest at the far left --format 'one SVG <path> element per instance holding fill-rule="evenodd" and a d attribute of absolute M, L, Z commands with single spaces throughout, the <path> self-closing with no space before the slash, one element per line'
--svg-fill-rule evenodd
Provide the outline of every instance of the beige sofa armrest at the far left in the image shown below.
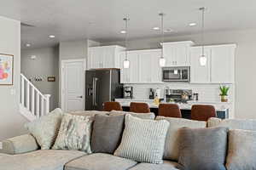
<path fill-rule="evenodd" d="M 39 146 L 36 139 L 31 134 L 24 134 L 11 139 L 2 141 L 3 149 L 0 153 L 15 155 L 33 150 L 38 150 Z"/>

